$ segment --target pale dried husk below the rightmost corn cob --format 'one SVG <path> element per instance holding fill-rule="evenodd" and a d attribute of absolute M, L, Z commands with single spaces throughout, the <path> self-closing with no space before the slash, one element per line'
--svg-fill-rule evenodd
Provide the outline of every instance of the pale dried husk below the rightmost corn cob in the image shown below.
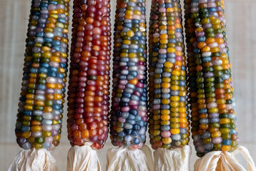
<path fill-rule="evenodd" d="M 197 160 L 195 171 L 246 171 L 235 155 L 241 153 L 247 160 L 248 171 L 256 171 L 255 163 L 246 147 L 239 146 L 234 152 L 214 151 L 208 152 L 204 157 Z"/>

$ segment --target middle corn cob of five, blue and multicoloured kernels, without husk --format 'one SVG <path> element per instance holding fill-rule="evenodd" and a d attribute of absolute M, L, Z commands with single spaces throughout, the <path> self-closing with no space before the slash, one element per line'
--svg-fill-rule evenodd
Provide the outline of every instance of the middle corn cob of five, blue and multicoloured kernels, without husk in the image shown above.
<path fill-rule="evenodd" d="M 110 138 L 115 146 L 141 148 L 147 130 L 145 0 L 117 1 Z"/>

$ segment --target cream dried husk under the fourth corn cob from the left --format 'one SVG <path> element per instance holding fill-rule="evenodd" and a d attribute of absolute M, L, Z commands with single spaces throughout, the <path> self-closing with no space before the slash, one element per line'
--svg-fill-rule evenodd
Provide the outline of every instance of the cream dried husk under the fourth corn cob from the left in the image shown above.
<path fill-rule="evenodd" d="M 189 171 L 190 155 L 189 145 L 172 150 L 157 148 L 154 151 L 154 170 Z"/>

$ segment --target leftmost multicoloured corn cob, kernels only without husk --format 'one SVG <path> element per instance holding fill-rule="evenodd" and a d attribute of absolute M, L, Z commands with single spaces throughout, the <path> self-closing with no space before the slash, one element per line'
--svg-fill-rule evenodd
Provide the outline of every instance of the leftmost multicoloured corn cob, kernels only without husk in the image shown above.
<path fill-rule="evenodd" d="M 69 1 L 32 1 L 16 137 L 24 149 L 59 145 Z M 66 25 L 66 27 L 64 27 Z M 65 69 L 66 68 L 66 69 Z"/>

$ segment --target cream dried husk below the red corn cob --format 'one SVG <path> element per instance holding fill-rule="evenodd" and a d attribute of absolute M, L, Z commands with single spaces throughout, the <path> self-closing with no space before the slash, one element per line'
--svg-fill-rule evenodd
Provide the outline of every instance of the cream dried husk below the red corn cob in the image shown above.
<path fill-rule="evenodd" d="M 74 145 L 67 155 L 67 171 L 101 171 L 97 151 L 91 143 L 83 146 Z"/>

